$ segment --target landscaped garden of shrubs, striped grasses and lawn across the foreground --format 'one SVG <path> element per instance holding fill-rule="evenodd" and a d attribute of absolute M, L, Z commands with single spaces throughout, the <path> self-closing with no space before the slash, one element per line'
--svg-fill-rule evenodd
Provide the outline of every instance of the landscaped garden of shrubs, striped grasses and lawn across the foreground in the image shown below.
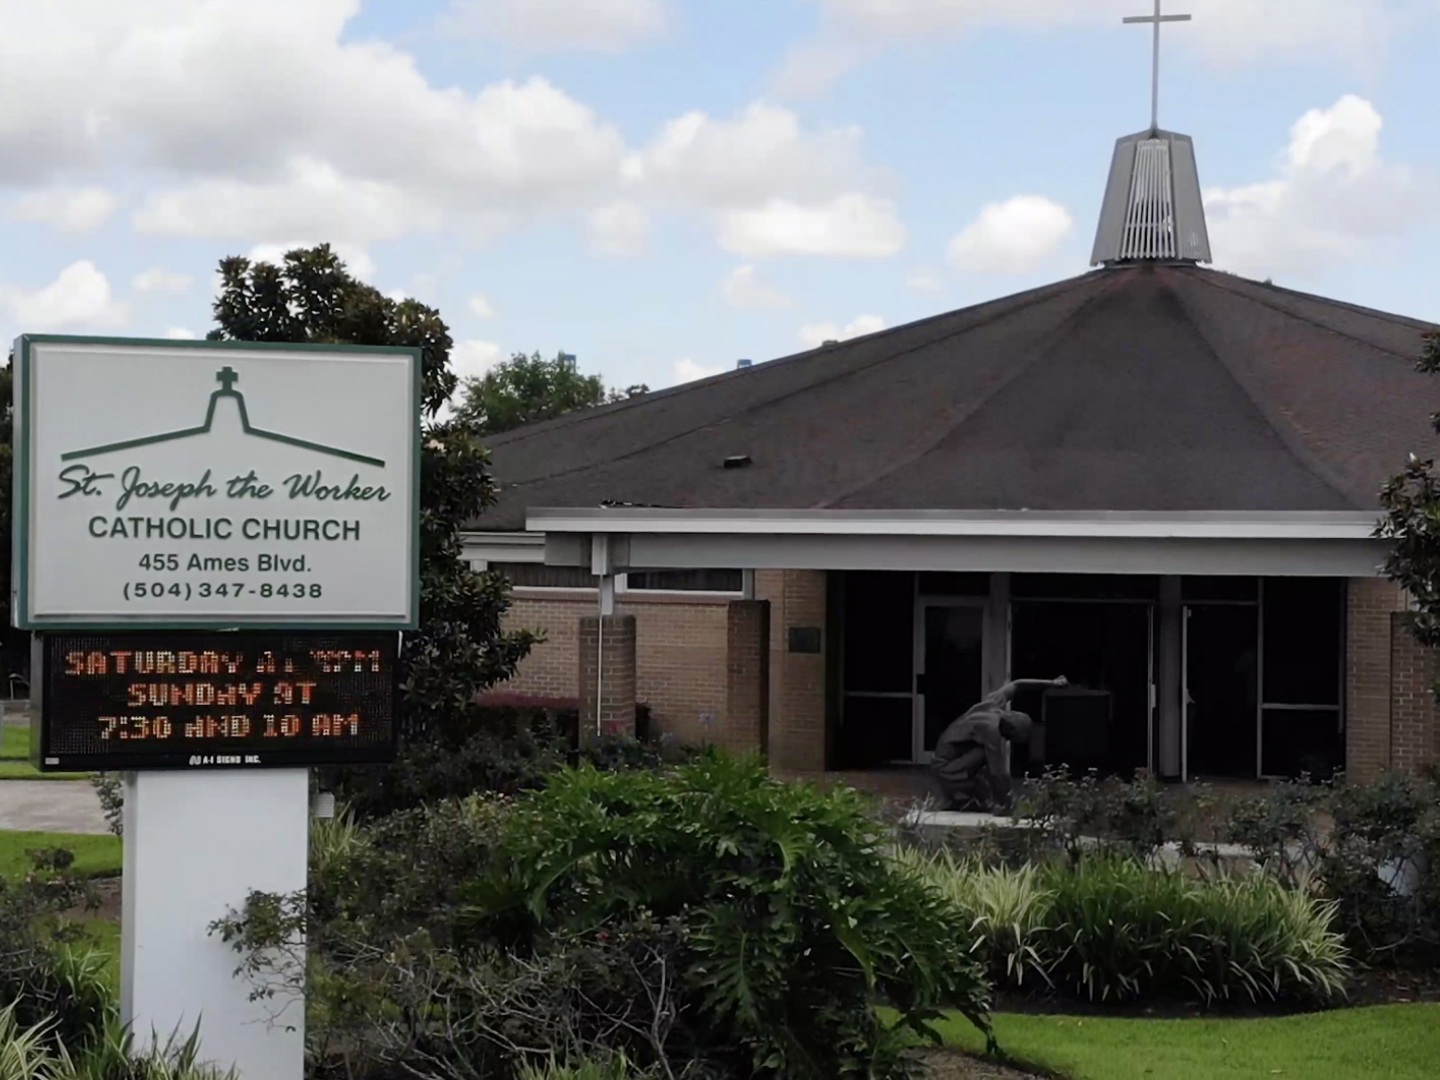
<path fill-rule="evenodd" d="M 1043 827 L 998 850 L 917 841 L 757 765 L 596 756 L 317 822 L 308 897 L 216 913 L 276 1014 L 304 976 L 312 1077 L 1418 1080 L 1440 1058 L 1440 1005 L 1403 1004 L 1440 996 L 1434 785 L 1217 809 L 1254 855 L 1237 873 L 1143 780 L 1053 778 L 1017 809 Z M 30 959 L 0 981 L 16 1035 L 58 1022 L 36 1038 L 84 1056 L 121 1035 L 95 933 L 114 904 L 75 874 L 114 851 L 81 854 L 12 868 Z M 88 1012 L 46 989 L 76 963 Z"/>

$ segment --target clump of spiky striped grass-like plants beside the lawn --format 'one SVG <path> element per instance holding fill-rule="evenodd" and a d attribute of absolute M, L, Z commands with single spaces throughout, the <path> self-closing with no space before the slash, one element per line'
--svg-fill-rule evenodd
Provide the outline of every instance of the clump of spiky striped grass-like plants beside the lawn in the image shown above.
<path fill-rule="evenodd" d="M 1323 1002 L 1344 994 L 1335 904 L 1263 873 L 1202 880 L 1089 857 L 1022 870 L 903 854 L 956 904 L 1001 986 L 1099 1002 Z M 1028 979 L 1028 986 L 1027 986 Z"/>

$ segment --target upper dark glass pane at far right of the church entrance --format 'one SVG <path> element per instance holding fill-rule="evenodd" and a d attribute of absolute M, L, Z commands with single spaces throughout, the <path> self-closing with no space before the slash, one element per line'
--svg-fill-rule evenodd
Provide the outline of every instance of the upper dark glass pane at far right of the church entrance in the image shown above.
<path fill-rule="evenodd" d="M 1341 582 L 1269 577 L 1264 583 L 1267 706 L 1339 706 Z"/>

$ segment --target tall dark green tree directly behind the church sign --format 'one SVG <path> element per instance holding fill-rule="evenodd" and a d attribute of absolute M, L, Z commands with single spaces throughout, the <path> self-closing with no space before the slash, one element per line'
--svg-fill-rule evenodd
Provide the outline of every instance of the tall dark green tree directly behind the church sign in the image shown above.
<path fill-rule="evenodd" d="M 478 724 L 475 694 L 513 675 L 536 638 L 501 628 L 507 583 L 461 557 L 459 530 L 494 503 L 495 487 L 475 425 L 435 419 L 456 384 L 449 328 L 435 308 L 357 281 L 330 245 L 287 252 L 279 266 L 222 259 L 220 278 L 210 340 L 423 350 L 420 628 L 405 636 L 402 721 L 412 742 L 464 744 Z"/>

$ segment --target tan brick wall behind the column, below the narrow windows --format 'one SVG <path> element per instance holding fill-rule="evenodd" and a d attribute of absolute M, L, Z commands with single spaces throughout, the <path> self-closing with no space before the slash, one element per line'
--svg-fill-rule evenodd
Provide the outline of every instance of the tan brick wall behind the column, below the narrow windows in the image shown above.
<path fill-rule="evenodd" d="M 595 593 L 516 589 L 505 629 L 544 629 L 546 642 L 497 690 L 576 697 L 577 628 L 598 603 Z M 615 613 L 635 618 L 635 696 L 651 708 L 652 732 L 685 743 L 723 740 L 727 608 L 721 596 L 616 598 Z"/>

